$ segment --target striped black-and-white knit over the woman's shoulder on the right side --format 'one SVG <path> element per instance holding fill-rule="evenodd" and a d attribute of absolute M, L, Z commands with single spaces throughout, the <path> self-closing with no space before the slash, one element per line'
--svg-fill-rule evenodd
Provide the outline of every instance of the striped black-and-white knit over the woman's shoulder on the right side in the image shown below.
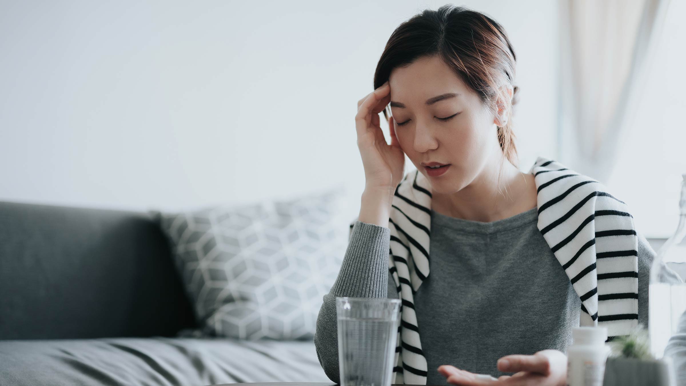
<path fill-rule="evenodd" d="M 582 326 L 628 334 L 638 324 L 638 237 L 626 204 L 558 162 L 539 157 L 530 172 L 538 227 L 582 300 Z"/>

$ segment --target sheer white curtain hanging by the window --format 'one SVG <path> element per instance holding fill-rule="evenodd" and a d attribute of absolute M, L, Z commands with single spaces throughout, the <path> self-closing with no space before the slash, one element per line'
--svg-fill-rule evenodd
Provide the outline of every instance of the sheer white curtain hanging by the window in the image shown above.
<path fill-rule="evenodd" d="M 561 0 L 558 159 L 605 182 L 670 0 Z"/>

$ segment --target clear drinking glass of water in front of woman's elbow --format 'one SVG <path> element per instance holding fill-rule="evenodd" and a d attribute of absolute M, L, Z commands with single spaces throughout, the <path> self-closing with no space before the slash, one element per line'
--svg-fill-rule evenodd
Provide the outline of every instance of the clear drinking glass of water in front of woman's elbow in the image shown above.
<path fill-rule="evenodd" d="M 390 386 L 400 299 L 336 297 L 341 386 Z"/>

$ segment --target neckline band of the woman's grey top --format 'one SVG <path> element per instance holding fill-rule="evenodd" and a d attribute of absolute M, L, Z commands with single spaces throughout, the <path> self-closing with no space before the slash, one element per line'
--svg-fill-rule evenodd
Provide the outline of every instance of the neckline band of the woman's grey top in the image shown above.
<path fill-rule="evenodd" d="M 508 218 L 490 221 L 484 223 L 476 220 L 465 220 L 464 218 L 457 218 L 440 214 L 434 209 L 431 209 L 431 228 L 434 225 L 439 227 L 449 227 L 456 231 L 465 231 L 478 234 L 492 234 L 501 231 L 508 231 L 516 229 L 530 223 L 537 223 L 539 218 L 539 208 L 533 207 L 525 212 L 515 214 Z"/>

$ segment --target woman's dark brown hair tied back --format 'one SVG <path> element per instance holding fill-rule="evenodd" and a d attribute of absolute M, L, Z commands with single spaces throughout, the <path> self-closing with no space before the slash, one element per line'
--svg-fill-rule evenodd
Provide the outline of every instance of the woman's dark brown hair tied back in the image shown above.
<path fill-rule="evenodd" d="M 504 157 L 517 166 L 512 133 L 512 106 L 517 103 L 519 89 L 513 84 L 516 56 L 503 27 L 463 6 L 446 4 L 438 10 L 424 10 L 391 34 L 374 73 L 374 89 L 388 80 L 392 69 L 431 56 L 440 57 L 453 69 L 492 113 L 497 113 L 498 100 L 509 104 L 508 120 L 505 126 L 498 126 L 498 141 Z M 505 82 L 514 88 L 512 100 L 503 87 Z M 383 115 L 388 120 L 390 111 L 384 109 Z"/>

